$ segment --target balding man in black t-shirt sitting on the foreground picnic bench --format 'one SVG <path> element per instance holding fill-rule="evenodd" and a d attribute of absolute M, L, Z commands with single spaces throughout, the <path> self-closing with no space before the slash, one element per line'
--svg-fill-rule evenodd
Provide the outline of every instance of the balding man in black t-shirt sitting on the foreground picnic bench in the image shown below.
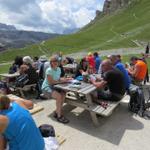
<path fill-rule="evenodd" d="M 123 74 L 113 67 L 109 59 L 102 61 L 101 69 L 103 78 L 100 81 L 91 79 L 92 84 L 98 88 L 98 98 L 109 101 L 121 100 L 126 91 Z M 105 86 L 107 90 L 104 90 Z"/>

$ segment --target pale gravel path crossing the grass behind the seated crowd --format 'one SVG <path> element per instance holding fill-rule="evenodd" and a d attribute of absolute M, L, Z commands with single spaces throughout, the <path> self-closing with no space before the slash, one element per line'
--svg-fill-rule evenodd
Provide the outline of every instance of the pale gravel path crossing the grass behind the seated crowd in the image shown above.
<path fill-rule="evenodd" d="M 91 52 L 93 52 L 93 51 L 91 51 Z M 130 55 L 130 54 L 145 53 L 145 48 L 144 47 L 120 48 L 120 49 L 112 49 L 112 50 L 101 50 L 101 51 L 97 51 L 97 52 L 99 53 L 100 56 L 107 56 L 107 55 L 112 55 L 112 54 Z M 81 58 L 87 56 L 87 54 L 88 54 L 88 51 L 82 51 L 82 52 L 67 54 L 67 55 L 64 55 L 64 57 L 72 57 L 74 59 L 81 59 Z M 0 63 L 0 66 L 9 65 L 9 64 L 12 64 L 12 62 Z"/>

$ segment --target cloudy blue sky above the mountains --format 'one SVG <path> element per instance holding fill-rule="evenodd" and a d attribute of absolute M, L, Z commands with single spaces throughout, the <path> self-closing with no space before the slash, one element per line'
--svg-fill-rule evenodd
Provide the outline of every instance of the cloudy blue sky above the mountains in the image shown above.
<path fill-rule="evenodd" d="M 0 22 L 18 29 L 62 33 L 81 28 L 102 10 L 104 0 L 0 0 Z"/>

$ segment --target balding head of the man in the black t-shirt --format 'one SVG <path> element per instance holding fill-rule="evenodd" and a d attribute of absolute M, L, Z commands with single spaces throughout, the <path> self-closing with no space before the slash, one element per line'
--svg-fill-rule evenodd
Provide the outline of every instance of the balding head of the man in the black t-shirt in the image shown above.
<path fill-rule="evenodd" d="M 103 60 L 101 63 L 102 72 L 107 72 L 112 69 L 112 62 L 109 59 Z"/>

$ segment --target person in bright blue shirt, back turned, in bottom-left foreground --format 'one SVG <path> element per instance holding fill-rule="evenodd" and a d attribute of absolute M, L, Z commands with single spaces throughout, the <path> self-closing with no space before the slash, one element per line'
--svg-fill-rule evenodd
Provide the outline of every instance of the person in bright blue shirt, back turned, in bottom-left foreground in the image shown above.
<path fill-rule="evenodd" d="M 24 101 L 0 96 L 0 150 L 44 150 L 44 139 Z"/>

